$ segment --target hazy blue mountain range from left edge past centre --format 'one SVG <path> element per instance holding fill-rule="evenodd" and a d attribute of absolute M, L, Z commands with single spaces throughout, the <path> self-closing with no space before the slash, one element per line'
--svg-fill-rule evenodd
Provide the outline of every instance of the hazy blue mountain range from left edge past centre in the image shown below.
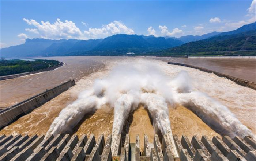
<path fill-rule="evenodd" d="M 1 49 L 1 57 L 120 55 L 127 52 L 146 53 L 184 44 L 163 37 L 116 34 L 105 39 L 27 39 L 25 44 Z"/>

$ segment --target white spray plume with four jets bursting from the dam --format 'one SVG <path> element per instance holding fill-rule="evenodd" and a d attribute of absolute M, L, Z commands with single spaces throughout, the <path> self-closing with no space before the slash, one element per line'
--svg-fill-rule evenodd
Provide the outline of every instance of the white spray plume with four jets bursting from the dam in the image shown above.
<path fill-rule="evenodd" d="M 181 104 L 196 113 L 213 128 L 220 128 L 223 134 L 252 137 L 251 131 L 219 102 L 208 95 L 192 90 L 192 81 L 187 72 L 180 72 L 176 78 L 165 76 L 158 66 L 134 65 L 118 66 L 104 79 L 97 79 L 92 89 L 80 94 L 79 98 L 63 109 L 54 119 L 47 134 L 58 134 L 72 129 L 87 113 L 104 104 L 114 108 L 112 149 L 117 135 L 121 134 L 129 113 L 142 103 L 153 118 L 153 126 L 161 133 L 172 130 L 168 105 Z M 173 138 L 169 138 L 173 143 Z M 176 148 L 172 148 L 176 149 Z M 173 152 L 177 156 L 177 152 Z"/>

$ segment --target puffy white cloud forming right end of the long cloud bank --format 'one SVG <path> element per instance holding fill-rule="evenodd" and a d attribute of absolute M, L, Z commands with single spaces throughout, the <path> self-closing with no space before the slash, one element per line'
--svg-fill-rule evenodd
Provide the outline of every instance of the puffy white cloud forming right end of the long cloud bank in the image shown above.
<path fill-rule="evenodd" d="M 102 25 L 102 28 L 89 28 L 88 31 L 84 31 L 84 34 L 90 38 L 102 38 L 114 34 L 135 34 L 135 32 L 120 21 L 113 21 Z"/>

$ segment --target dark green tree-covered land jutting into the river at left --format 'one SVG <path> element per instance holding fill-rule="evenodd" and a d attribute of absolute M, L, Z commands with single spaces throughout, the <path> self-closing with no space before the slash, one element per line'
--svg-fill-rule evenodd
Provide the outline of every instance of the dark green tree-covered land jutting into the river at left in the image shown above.
<path fill-rule="evenodd" d="M 26 61 L 20 59 L 0 60 L 0 76 L 32 72 L 49 67 L 57 66 L 60 62 L 56 60 Z"/>

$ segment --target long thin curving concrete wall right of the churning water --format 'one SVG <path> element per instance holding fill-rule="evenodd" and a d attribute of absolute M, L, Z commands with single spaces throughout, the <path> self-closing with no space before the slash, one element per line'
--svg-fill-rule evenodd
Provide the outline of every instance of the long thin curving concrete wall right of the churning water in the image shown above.
<path fill-rule="evenodd" d="M 219 77 L 225 77 L 229 80 L 232 80 L 233 82 L 236 82 L 238 85 L 249 87 L 251 89 L 256 90 L 256 83 L 254 83 L 254 82 L 249 82 L 247 80 L 239 79 L 239 78 L 236 78 L 236 77 L 233 77 L 233 76 L 230 76 L 230 75 L 222 74 L 222 73 L 219 73 L 219 72 L 216 72 L 216 71 L 208 70 L 206 68 L 196 67 L 196 66 L 192 66 L 192 65 L 188 65 L 188 64 L 173 63 L 173 62 L 168 62 L 168 64 L 185 66 L 185 67 L 199 69 L 201 71 L 208 72 L 208 73 L 214 73 L 215 75 L 217 75 Z"/>

